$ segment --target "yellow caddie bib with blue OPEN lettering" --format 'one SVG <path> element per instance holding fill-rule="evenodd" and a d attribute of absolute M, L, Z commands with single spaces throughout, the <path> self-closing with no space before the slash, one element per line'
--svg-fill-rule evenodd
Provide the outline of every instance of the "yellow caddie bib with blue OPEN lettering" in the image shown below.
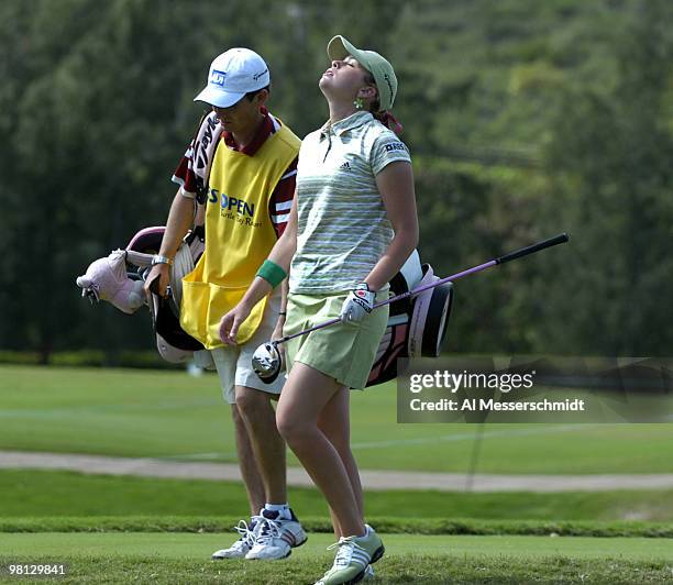
<path fill-rule="evenodd" d="M 206 202 L 206 250 L 183 278 L 180 305 L 180 325 L 208 350 L 222 345 L 222 316 L 243 298 L 277 241 L 269 199 L 299 145 L 283 125 L 253 156 L 228 148 L 223 141 L 216 151 Z M 257 330 L 265 307 L 266 298 L 241 325 L 239 343 Z"/>

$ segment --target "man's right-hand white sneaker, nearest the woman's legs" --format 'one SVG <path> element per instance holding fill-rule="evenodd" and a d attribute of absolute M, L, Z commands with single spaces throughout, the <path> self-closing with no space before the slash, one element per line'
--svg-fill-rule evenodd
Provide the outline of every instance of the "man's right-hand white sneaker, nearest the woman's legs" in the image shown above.
<path fill-rule="evenodd" d="M 290 514 L 290 519 L 278 519 L 277 511 L 262 510 L 261 523 L 255 527 L 255 543 L 245 559 L 275 561 L 301 547 L 307 536 L 295 514 L 291 510 Z"/>

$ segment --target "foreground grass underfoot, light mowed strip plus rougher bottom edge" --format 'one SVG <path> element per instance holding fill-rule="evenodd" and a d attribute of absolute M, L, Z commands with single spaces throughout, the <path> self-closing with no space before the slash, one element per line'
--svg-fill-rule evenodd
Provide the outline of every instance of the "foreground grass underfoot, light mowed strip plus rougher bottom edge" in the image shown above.
<path fill-rule="evenodd" d="M 377 583 L 662 583 L 673 578 L 673 541 L 665 539 L 385 534 L 384 541 L 386 556 L 376 565 Z M 0 534 L 0 566 L 64 563 L 68 576 L 59 583 L 299 584 L 313 583 L 333 554 L 326 551 L 332 542 L 329 534 L 311 534 L 286 561 L 208 561 L 227 542 L 228 537 L 219 534 Z"/>

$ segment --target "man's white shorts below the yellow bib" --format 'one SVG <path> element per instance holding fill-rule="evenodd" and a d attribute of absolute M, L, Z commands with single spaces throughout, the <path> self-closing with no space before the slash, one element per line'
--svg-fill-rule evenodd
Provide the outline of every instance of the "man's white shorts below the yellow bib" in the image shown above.
<path fill-rule="evenodd" d="M 243 345 L 216 347 L 210 354 L 220 377 L 222 397 L 230 405 L 236 402 L 235 386 L 245 386 L 257 390 L 279 395 L 285 383 L 285 376 L 278 376 L 272 384 L 264 384 L 252 368 L 252 356 L 255 350 L 271 340 L 278 322 L 280 311 L 280 287 L 266 301 L 262 323 L 254 335 Z"/>

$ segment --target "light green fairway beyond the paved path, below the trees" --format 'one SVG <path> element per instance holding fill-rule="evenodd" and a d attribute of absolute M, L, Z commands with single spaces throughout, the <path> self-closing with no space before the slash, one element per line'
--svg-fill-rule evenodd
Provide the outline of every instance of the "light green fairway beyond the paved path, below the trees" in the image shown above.
<path fill-rule="evenodd" d="M 0 449 L 233 462 L 228 410 L 213 375 L 0 366 Z M 352 442 L 362 468 L 464 472 L 477 430 L 398 424 L 394 384 L 353 393 Z M 483 473 L 673 473 L 673 424 L 483 431 Z M 297 465 L 291 454 L 288 461 Z"/>

